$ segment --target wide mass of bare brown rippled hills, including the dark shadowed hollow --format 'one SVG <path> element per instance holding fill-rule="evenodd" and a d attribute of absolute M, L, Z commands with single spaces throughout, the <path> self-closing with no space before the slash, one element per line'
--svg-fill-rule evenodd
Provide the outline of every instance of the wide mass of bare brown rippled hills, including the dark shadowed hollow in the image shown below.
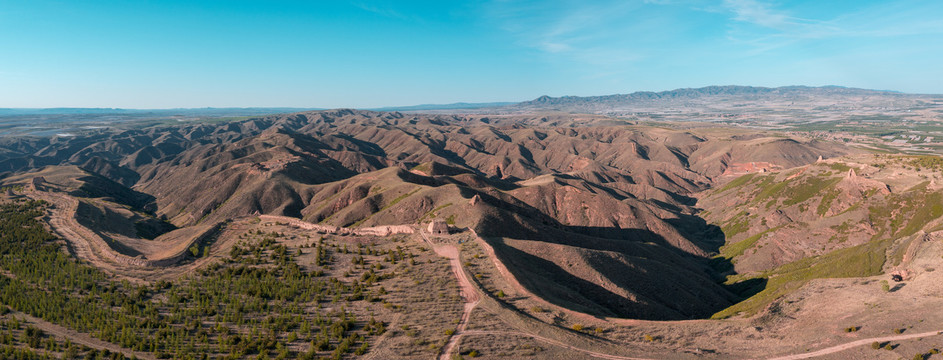
<path fill-rule="evenodd" d="M 11 141 L 0 166 L 78 166 L 101 179 L 87 189 L 183 228 L 257 214 L 342 227 L 447 219 L 494 239 L 508 268 L 550 301 L 602 316 L 685 319 L 739 300 L 708 266 L 725 238 L 697 215 L 694 194 L 723 175 L 853 152 L 593 119 L 307 112 Z M 86 206 L 79 217 L 113 213 Z M 138 241 L 129 229 L 103 231 L 119 244 Z"/>

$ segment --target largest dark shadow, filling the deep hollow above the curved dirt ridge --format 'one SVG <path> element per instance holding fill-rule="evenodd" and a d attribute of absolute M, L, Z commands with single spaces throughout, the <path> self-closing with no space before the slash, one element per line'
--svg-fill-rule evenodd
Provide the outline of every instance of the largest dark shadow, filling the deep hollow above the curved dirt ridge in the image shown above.
<path fill-rule="evenodd" d="M 486 213 L 476 231 L 493 239 L 489 243 L 495 243 L 499 259 L 521 284 L 565 308 L 593 316 L 703 319 L 767 286 L 766 279 L 724 285 L 724 275 L 733 270 L 730 259 L 696 254 L 716 254 L 725 235 L 696 215 L 675 213 L 676 218 L 665 219 L 681 235 L 666 238 L 660 229 L 565 225 L 512 197 L 460 189 L 464 197 L 479 195 L 498 210 Z M 560 261 L 550 248 L 529 243 L 516 248 L 496 238 L 570 246 L 581 260 Z M 596 281 L 597 275 L 603 277 Z"/>

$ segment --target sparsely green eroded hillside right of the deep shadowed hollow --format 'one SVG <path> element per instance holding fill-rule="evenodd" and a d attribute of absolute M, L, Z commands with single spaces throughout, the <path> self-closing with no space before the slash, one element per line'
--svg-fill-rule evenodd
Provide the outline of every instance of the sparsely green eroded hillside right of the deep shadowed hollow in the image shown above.
<path fill-rule="evenodd" d="M 718 267 L 728 284 L 765 284 L 717 316 L 755 314 L 811 279 L 906 278 L 908 249 L 943 226 L 941 177 L 936 157 L 858 155 L 748 174 L 701 194 L 701 215 L 727 238 L 715 260 L 730 264 Z"/>

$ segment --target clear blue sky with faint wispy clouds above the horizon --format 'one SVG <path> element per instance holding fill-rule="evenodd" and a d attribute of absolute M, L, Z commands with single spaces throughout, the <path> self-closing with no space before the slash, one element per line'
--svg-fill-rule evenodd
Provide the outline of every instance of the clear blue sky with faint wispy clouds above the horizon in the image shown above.
<path fill-rule="evenodd" d="M 0 0 L 0 107 L 943 93 L 943 1 Z"/>

